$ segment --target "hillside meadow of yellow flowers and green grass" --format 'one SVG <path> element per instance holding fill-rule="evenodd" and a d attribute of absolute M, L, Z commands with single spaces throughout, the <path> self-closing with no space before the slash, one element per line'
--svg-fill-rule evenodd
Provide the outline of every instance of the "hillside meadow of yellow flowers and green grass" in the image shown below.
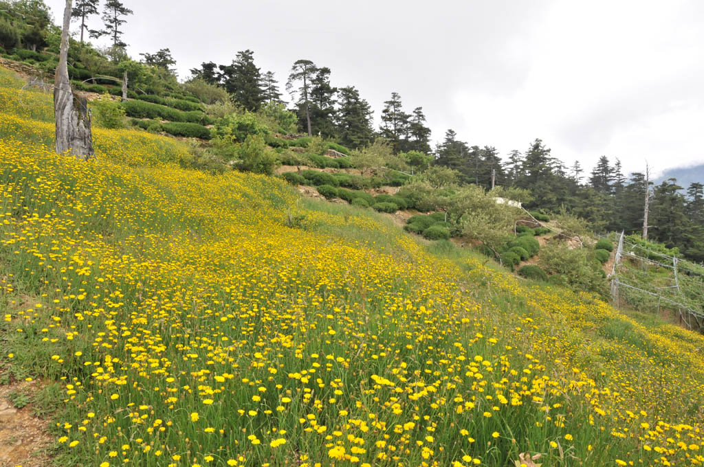
<path fill-rule="evenodd" d="M 704 463 L 700 335 L 161 136 L 56 155 L 51 96 L 0 96 L 0 365 L 57 465 Z"/>

